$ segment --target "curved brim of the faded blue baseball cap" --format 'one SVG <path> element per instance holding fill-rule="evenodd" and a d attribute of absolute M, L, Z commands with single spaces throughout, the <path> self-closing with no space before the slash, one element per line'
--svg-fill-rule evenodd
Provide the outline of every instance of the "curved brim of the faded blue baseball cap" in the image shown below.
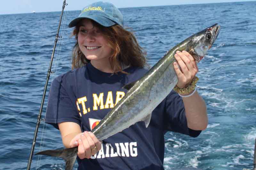
<path fill-rule="evenodd" d="M 81 19 L 84 19 L 84 18 L 92 19 L 93 21 L 99 23 L 102 26 L 113 26 L 113 25 L 117 24 L 114 21 L 112 21 L 111 19 L 108 19 L 106 17 L 100 16 L 100 15 L 90 15 L 90 16 L 86 16 L 86 17 L 78 17 L 78 18 L 73 19 L 68 24 L 68 27 L 72 28 L 74 26 L 77 26 L 77 24 L 81 21 Z"/>

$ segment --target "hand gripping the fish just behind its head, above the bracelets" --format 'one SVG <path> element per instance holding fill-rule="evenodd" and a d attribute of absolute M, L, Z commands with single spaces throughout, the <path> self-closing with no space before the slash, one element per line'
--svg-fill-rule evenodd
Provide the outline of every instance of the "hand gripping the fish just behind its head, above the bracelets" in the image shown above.
<path fill-rule="evenodd" d="M 184 88 L 191 83 L 198 72 L 198 67 L 194 57 L 187 51 L 177 51 L 174 57 L 177 61 L 173 63 L 174 70 L 178 76 L 177 86 Z"/>

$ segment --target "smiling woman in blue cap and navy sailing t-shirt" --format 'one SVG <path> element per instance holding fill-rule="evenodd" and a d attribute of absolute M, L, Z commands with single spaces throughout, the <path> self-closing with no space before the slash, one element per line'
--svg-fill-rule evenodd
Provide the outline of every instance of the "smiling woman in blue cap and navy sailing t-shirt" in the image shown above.
<path fill-rule="evenodd" d="M 53 80 L 45 121 L 60 129 L 65 147 L 78 146 L 78 169 L 164 169 L 164 134 L 197 137 L 208 122 L 204 100 L 196 89 L 189 97 L 172 91 L 152 112 L 148 128 L 137 122 L 99 141 L 90 131 L 125 95 L 122 87 L 148 71 L 146 54 L 113 4 L 86 6 L 69 27 L 75 27 L 77 40 L 73 70 Z M 196 62 L 186 51 L 175 59 L 176 86 L 186 88 L 198 71 Z"/>

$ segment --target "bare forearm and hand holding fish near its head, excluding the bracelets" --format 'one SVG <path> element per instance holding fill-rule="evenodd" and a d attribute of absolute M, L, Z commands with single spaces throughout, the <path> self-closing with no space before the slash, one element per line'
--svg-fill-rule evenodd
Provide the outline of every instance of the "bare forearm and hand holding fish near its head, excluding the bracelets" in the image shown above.
<path fill-rule="evenodd" d="M 177 60 L 177 63 L 174 63 L 174 69 L 178 76 L 177 86 L 184 88 L 186 85 L 191 83 L 192 79 L 198 72 L 198 68 L 194 58 L 186 51 L 177 51 L 175 59 Z M 194 130 L 206 129 L 208 117 L 203 98 L 195 92 L 190 97 L 182 98 L 182 100 L 185 107 L 188 128 Z"/>

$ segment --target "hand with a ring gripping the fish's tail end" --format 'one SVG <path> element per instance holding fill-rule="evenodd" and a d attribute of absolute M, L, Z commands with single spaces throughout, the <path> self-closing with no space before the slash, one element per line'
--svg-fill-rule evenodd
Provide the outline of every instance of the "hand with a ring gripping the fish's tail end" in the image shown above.
<path fill-rule="evenodd" d="M 92 132 L 84 131 L 77 134 L 70 142 L 69 146 L 78 146 L 77 156 L 80 159 L 91 158 L 101 149 L 101 142 L 95 137 Z"/>

